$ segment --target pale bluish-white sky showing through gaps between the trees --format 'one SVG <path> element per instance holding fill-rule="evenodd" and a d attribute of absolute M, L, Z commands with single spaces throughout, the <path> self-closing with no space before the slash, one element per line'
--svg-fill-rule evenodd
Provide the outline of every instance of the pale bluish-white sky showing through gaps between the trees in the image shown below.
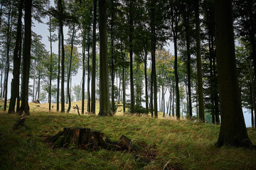
<path fill-rule="evenodd" d="M 51 6 L 54 6 L 53 1 L 50 2 Z M 50 51 L 50 42 L 48 41 L 48 35 L 49 35 L 49 31 L 48 31 L 48 26 L 46 25 L 46 23 L 48 22 L 48 18 L 43 18 L 42 19 L 43 23 L 38 23 L 37 21 L 33 21 L 34 25 L 32 27 L 33 32 L 35 32 L 38 35 L 42 36 L 42 43 L 44 45 L 46 45 L 46 50 Z M 68 28 L 64 27 L 63 28 L 64 31 L 64 39 L 68 38 Z M 58 34 L 57 31 L 55 32 L 55 34 Z M 66 43 L 66 42 L 64 42 Z M 172 42 L 169 41 L 169 43 L 167 43 L 167 45 L 164 47 L 166 50 L 169 50 L 171 52 L 171 54 L 174 54 L 174 45 Z M 78 52 L 82 53 L 82 48 L 78 47 Z M 53 53 L 58 54 L 58 41 L 53 42 Z M 149 67 L 149 66 L 148 66 Z M 8 96 L 10 98 L 10 89 L 11 89 L 11 79 L 12 79 L 12 73 L 10 72 L 9 74 L 9 92 L 8 92 Z M 85 77 L 85 79 L 87 79 Z M 79 85 L 80 82 L 82 80 L 82 69 L 80 69 L 78 71 L 78 74 L 75 77 L 72 77 L 72 86 L 74 85 Z M 30 84 L 33 84 L 33 80 L 30 79 Z M 56 82 L 53 82 L 53 84 L 56 84 Z M 87 84 L 87 81 L 86 81 Z M 65 84 L 66 85 L 66 84 Z M 85 85 L 85 91 L 87 91 L 87 85 Z M 129 93 L 129 89 L 127 89 L 127 92 Z M 169 91 L 166 92 L 166 101 L 169 100 Z M 29 101 L 32 101 L 32 98 L 29 98 Z M 158 100 L 159 101 L 159 100 Z M 195 105 L 195 103 L 193 104 Z M 158 104 L 159 106 L 159 104 Z M 247 110 L 243 109 L 243 113 L 244 113 L 244 117 L 245 117 L 245 124 L 247 127 L 251 127 L 251 120 L 250 120 L 250 112 L 248 112 Z"/>

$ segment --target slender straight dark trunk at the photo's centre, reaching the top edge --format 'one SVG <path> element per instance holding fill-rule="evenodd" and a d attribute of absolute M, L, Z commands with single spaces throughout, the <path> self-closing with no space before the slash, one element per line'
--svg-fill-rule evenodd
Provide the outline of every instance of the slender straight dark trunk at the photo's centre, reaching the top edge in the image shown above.
<path fill-rule="evenodd" d="M 133 1 L 129 3 L 129 57 L 130 57 L 130 90 L 131 90 L 131 113 L 134 113 L 134 79 L 132 69 L 132 38 L 133 38 Z"/>

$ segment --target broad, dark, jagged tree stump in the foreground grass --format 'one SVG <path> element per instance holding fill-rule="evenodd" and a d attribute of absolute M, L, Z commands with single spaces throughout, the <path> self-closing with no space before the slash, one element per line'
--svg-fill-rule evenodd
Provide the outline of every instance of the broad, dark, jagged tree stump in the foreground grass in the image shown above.
<path fill-rule="evenodd" d="M 53 148 L 99 150 L 100 148 L 117 151 L 136 150 L 132 140 L 122 135 L 119 141 L 111 141 L 104 133 L 90 128 L 64 128 L 63 131 L 49 137 Z"/>

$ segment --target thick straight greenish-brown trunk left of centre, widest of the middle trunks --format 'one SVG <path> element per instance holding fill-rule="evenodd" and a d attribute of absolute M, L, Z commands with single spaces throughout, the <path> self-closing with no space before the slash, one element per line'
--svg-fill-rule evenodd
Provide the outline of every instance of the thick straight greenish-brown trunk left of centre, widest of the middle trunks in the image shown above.
<path fill-rule="evenodd" d="M 110 115 L 109 72 L 107 60 L 107 1 L 99 0 L 100 11 L 100 116 Z"/>

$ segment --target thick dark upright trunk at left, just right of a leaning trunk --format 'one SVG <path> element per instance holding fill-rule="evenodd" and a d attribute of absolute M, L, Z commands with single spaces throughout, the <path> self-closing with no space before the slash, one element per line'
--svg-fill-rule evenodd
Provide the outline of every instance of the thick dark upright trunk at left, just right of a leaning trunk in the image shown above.
<path fill-rule="evenodd" d="M 28 83 L 29 83 L 29 68 L 31 63 L 31 9 L 32 0 L 25 1 L 25 39 L 23 42 L 23 70 L 22 70 L 22 93 L 21 93 L 21 108 L 20 114 L 23 111 L 26 115 L 29 115 L 28 106 Z"/>

